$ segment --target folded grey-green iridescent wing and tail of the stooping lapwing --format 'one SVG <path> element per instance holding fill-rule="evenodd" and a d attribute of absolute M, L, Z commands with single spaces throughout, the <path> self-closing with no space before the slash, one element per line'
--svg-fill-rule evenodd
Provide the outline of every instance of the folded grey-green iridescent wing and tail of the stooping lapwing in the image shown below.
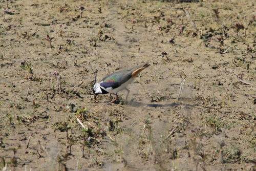
<path fill-rule="evenodd" d="M 109 90 L 118 88 L 130 78 L 135 78 L 142 70 L 148 66 L 150 66 L 148 63 L 144 63 L 143 65 L 136 66 L 129 70 L 118 71 L 110 74 L 102 79 L 100 86 Z"/>

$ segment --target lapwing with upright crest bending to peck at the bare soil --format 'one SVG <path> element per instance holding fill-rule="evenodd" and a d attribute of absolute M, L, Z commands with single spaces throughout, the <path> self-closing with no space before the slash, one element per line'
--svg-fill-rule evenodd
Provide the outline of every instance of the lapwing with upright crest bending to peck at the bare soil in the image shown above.
<path fill-rule="evenodd" d="M 126 90 L 127 95 L 124 101 L 124 103 L 126 103 L 127 97 L 130 93 L 130 90 L 127 89 L 128 84 L 132 83 L 134 79 L 139 75 L 139 73 L 149 66 L 150 64 L 145 62 L 142 65 L 136 66 L 132 69 L 114 72 L 110 75 L 105 76 L 99 83 L 96 82 L 97 71 L 98 71 L 96 70 L 94 72 L 95 79 L 94 79 L 94 86 L 93 86 L 94 100 L 96 99 L 96 96 L 98 94 L 112 93 L 116 95 L 116 98 L 108 103 L 108 104 L 111 104 L 114 101 L 119 99 L 117 95 L 119 91 Z"/>

